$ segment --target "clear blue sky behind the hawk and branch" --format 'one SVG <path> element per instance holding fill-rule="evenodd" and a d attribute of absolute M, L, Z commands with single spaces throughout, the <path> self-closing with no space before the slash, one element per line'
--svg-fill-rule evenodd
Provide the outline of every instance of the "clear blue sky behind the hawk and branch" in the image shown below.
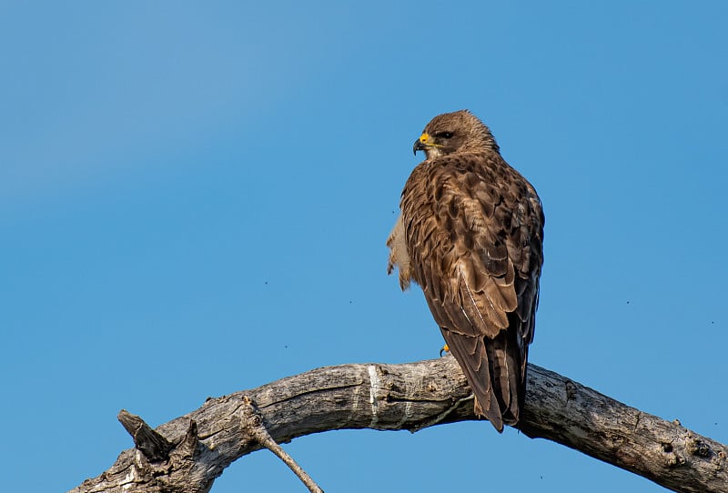
<path fill-rule="evenodd" d="M 461 108 L 543 201 L 531 362 L 728 442 L 726 25 L 723 1 L 0 3 L 3 488 L 100 474 L 121 408 L 436 357 L 384 242 L 414 139 Z M 485 422 L 285 447 L 327 491 L 663 490 Z M 213 491 L 241 488 L 304 491 L 265 451 Z"/>

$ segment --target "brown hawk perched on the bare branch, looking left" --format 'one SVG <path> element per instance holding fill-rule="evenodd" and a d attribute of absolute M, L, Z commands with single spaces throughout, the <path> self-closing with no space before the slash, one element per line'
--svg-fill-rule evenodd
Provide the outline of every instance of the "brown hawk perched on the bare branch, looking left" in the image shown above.
<path fill-rule="evenodd" d="M 387 246 L 399 286 L 419 284 L 475 396 L 499 432 L 518 423 L 543 263 L 543 211 L 531 184 L 467 110 L 432 118 L 426 159 L 402 191 Z"/>

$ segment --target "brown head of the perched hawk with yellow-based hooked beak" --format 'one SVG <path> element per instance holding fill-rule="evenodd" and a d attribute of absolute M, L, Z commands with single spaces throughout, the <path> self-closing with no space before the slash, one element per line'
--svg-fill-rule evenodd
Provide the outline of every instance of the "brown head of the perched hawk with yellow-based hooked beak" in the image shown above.
<path fill-rule="evenodd" d="M 428 159 L 434 159 L 457 152 L 498 152 L 498 144 L 477 116 L 462 109 L 432 118 L 412 150 L 425 151 Z"/>

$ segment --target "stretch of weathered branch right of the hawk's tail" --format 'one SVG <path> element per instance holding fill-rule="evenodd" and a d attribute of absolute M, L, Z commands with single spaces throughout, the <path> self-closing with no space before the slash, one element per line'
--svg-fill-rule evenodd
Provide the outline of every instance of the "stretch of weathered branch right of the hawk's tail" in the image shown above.
<path fill-rule="evenodd" d="M 518 427 L 527 436 L 575 448 L 673 491 L 728 492 L 725 445 L 677 420 L 665 421 L 557 373 L 532 369 L 537 375 L 529 380 Z"/>

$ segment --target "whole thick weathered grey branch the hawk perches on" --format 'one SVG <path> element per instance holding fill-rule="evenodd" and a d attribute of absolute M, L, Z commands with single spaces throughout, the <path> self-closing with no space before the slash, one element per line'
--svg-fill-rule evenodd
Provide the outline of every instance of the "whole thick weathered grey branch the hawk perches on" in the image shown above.
<path fill-rule="evenodd" d="M 404 365 L 323 367 L 229 396 L 157 428 L 174 445 L 150 462 L 125 450 L 73 493 L 205 492 L 234 460 L 261 448 L 242 425 L 252 399 L 278 443 L 343 428 L 416 431 L 475 419 L 470 389 L 452 357 Z M 529 365 L 519 428 L 680 492 L 728 492 L 726 447 L 627 407 L 566 377 Z M 241 485 L 242 488 L 242 485 Z"/>

